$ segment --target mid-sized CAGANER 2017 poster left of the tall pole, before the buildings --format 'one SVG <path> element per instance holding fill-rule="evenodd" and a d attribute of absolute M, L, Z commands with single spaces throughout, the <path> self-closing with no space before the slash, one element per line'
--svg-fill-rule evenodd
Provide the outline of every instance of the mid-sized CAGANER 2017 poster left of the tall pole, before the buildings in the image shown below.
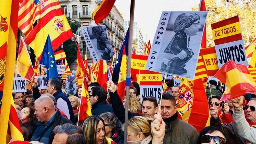
<path fill-rule="evenodd" d="M 82 27 L 82 32 L 94 62 L 113 57 L 114 50 L 107 38 L 106 26 Z"/>

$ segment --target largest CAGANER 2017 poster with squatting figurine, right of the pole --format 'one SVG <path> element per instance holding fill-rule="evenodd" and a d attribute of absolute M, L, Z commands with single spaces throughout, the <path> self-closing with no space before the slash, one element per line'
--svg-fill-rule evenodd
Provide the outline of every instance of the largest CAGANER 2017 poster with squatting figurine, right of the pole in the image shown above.
<path fill-rule="evenodd" d="M 146 70 L 194 79 L 207 11 L 163 11 Z"/>

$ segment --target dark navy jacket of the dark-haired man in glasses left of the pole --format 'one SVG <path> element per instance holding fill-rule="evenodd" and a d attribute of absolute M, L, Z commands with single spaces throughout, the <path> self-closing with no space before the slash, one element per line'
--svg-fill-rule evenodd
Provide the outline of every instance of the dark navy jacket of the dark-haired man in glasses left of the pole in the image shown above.
<path fill-rule="evenodd" d="M 107 104 L 106 101 L 97 101 L 92 106 L 92 115 L 100 115 L 101 113 L 104 113 L 104 112 L 114 113 L 112 106 Z"/>

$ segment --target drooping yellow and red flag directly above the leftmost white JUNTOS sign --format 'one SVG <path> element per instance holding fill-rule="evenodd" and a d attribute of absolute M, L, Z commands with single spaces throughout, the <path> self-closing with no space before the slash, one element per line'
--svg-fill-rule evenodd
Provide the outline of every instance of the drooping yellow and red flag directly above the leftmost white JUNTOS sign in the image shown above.
<path fill-rule="evenodd" d="M 24 43 L 23 37 L 21 36 L 20 45 L 18 50 L 17 58 L 17 73 L 22 77 L 32 81 L 34 76 L 34 69 L 30 60 L 26 44 Z"/>

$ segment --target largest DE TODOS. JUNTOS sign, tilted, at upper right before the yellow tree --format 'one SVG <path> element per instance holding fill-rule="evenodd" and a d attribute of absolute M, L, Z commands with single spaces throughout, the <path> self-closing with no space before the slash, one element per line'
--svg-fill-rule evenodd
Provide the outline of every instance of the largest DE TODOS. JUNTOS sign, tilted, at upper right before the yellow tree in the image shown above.
<path fill-rule="evenodd" d="M 231 59 L 248 66 L 238 15 L 212 24 L 212 32 L 219 68 Z"/>

